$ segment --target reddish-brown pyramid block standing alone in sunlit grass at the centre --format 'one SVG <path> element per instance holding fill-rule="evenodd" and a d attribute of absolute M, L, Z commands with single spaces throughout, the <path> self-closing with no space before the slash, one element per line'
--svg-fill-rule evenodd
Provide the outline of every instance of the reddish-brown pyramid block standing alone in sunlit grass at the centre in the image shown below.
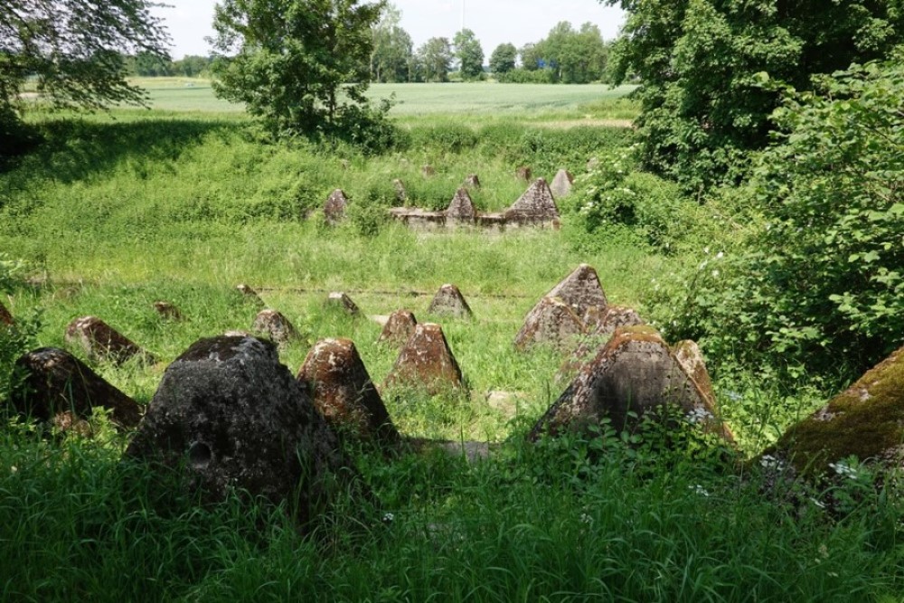
<path fill-rule="evenodd" d="M 417 325 L 384 382 L 386 388 L 412 387 L 431 395 L 464 386 L 461 369 L 439 325 Z"/>

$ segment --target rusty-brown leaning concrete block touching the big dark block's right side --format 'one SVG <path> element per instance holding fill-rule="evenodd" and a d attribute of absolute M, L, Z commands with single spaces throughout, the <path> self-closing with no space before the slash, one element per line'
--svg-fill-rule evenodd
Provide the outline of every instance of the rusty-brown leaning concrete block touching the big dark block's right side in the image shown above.
<path fill-rule="evenodd" d="M 326 422 L 339 434 L 394 446 L 399 432 L 351 339 L 322 339 L 305 358 L 297 379 Z"/>

